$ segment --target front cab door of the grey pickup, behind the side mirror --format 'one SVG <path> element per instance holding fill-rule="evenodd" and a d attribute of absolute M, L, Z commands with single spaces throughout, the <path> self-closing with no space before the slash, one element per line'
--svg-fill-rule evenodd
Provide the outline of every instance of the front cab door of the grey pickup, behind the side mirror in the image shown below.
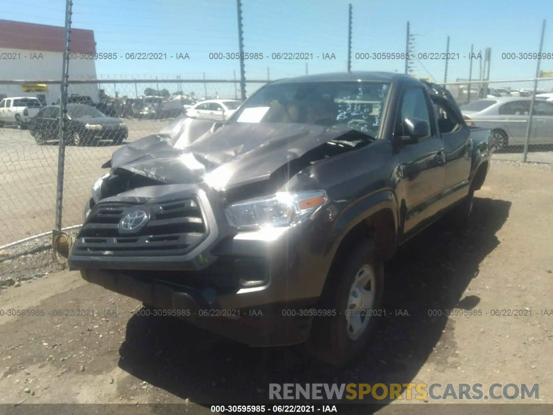
<path fill-rule="evenodd" d="M 429 124 L 429 135 L 413 143 L 399 144 L 398 161 L 403 200 L 400 239 L 406 240 L 434 219 L 432 205 L 444 189 L 444 142 L 436 131 L 434 110 L 423 87 L 408 87 L 403 91 L 397 112 L 394 140 L 405 134 L 406 118 L 418 118 Z"/>

